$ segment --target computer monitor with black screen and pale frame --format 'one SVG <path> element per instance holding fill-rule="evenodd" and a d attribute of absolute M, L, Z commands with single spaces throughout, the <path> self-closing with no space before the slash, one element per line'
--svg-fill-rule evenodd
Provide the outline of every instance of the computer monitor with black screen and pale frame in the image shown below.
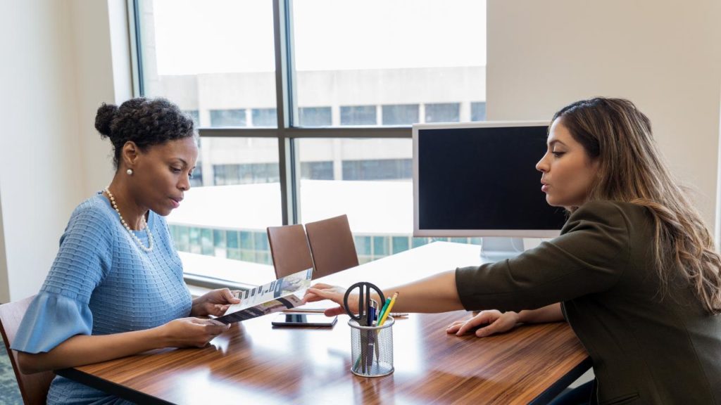
<path fill-rule="evenodd" d="M 548 125 L 413 125 L 413 236 L 558 236 L 565 210 L 536 170 Z"/>

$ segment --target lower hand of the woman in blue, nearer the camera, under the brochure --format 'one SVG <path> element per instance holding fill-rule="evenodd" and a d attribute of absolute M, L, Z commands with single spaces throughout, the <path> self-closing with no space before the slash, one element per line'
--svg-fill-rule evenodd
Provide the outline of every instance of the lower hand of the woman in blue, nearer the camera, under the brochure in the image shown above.
<path fill-rule="evenodd" d="M 212 319 L 180 318 L 160 326 L 165 347 L 205 347 L 216 336 L 230 329 Z"/>

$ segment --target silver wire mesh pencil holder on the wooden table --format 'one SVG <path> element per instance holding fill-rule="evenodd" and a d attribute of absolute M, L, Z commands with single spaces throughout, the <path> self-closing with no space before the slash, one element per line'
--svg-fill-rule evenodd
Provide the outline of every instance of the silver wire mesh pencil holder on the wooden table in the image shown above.
<path fill-rule="evenodd" d="M 350 319 L 350 371 L 361 377 L 393 373 L 393 324 L 389 316 L 382 326 L 361 326 Z"/>

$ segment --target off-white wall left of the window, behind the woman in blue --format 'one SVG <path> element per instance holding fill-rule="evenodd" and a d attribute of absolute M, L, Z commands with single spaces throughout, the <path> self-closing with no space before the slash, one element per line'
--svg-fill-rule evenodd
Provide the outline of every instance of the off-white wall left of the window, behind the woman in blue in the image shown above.
<path fill-rule="evenodd" d="M 16 1 L 0 16 L 0 302 L 37 293 L 70 213 L 112 175 L 93 123 L 100 102 L 115 101 L 118 3 Z"/>

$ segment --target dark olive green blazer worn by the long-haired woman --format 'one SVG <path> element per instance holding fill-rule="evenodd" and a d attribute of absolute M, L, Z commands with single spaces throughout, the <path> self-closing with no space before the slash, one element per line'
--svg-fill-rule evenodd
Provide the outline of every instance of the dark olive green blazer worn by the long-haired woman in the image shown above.
<path fill-rule="evenodd" d="M 598 201 L 514 259 L 456 270 L 468 310 L 562 303 L 593 360 L 599 404 L 721 404 L 721 316 L 689 282 L 659 292 L 647 208 Z M 543 350 L 539 347 L 539 350 Z"/>

